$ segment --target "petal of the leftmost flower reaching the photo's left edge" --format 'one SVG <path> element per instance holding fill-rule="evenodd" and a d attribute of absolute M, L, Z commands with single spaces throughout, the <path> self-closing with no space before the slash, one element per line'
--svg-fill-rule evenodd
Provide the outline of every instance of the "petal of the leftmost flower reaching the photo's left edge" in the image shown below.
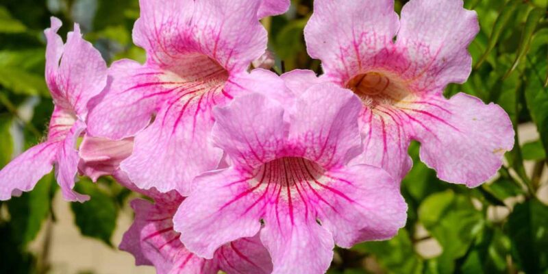
<path fill-rule="evenodd" d="M 15 190 L 29 191 L 51 172 L 59 142 L 36 145 L 4 166 L 0 171 L 0 200 L 8 200 Z"/>

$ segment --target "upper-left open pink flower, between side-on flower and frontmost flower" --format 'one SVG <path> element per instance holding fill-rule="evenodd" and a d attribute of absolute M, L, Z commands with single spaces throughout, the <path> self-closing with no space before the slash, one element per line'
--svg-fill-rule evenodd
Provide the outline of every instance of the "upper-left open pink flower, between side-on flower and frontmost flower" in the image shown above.
<path fill-rule="evenodd" d="M 92 136 L 135 136 L 121 169 L 138 187 L 186 195 L 193 177 L 219 164 L 212 108 L 241 91 L 236 79 L 266 49 L 257 14 L 282 12 L 279 3 L 288 1 L 140 0 L 133 37 L 147 62 L 112 64 L 113 81 L 88 123 Z"/>

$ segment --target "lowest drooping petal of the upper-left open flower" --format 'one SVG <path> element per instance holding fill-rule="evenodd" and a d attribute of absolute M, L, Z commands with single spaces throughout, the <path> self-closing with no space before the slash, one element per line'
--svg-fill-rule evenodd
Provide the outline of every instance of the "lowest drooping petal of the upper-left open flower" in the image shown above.
<path fill-rule="evenodd" d="M 208 93 L 175 97 L 135 138 L 134 152 L 121 169 L 139 188 L 160 192 L 192 190 L 192 179 L 219 164 L 223 152 L 212 146 L 212 104 Z"/>

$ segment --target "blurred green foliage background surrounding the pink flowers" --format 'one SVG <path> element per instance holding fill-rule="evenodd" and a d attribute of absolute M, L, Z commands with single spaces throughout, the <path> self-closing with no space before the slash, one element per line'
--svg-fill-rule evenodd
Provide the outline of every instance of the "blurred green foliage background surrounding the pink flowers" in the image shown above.
<path fill-rule="evenodd" d="M 398 12 L 405 2 L 396 1 Z M 481 31 L 470 47 L 469 81 L 449 86 L 447 97 L 464 91 L 498 103 L 510 114 L 519 145 L 506 154 L 493 182 L 468 189 L 440 182 L 418 160 L 419 145 L 412 144 L 414 167 L 401 187 L 409 205 L 406 227 L 392 240 L 337 249 L 329 273 L 548 273 L 548 0 L 464 2 L 479 15 Z M 0 166 L 45 135 L 53 110 L 43 77 L 42 31 L 49 16 L 63 21 L 62 37 L 73 22 L 80 23 L 109 64 L 120 58 L 142 62 L 145 53 L 131 37 L 138 9 L 137 0 L 0 0 Z M 311 12 L 312 0 L 295 0 L 286 14 L 263 19 L 277 58 L 275 71 L 321 73 L 303 40 Z M 64 219 L 102 242 L 100 248 L 119 244 L 112 238 L 116 229 L 129 226 L 130 218 L 125 227 L 116 223 L 131 214 L 131 192 L 109 178 L 97 185 L 82 179 L 77 190 L 92 199 L 71 204 L 75 216 L 69 216 L 58 210 L 64 201 L 57 199 L 54 180 L 48 175 L 32 192 L 0 202 L 0 273 L 76 273 L 51 262 L 51 246 L 64 237 L 52 227 Z M 79 245 L 70 242 L 69 253 Z M 125 271 L 105 273 L 132 272 L 132 260 L 126 261 L 118 267 Z"/>

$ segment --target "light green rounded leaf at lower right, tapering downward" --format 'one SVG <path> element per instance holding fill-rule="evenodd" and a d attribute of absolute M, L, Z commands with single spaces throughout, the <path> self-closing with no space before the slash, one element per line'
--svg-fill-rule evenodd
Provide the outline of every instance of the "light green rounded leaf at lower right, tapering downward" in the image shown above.
<path fill-rule="evenodd" d="M 452 190 L 427 197 L 419 208 L 419 221 L 443 247 L 438 258 L 443 273 L 453 271 L 453 260 L 464 256 L 484 224 L 469 197 Z"/>

